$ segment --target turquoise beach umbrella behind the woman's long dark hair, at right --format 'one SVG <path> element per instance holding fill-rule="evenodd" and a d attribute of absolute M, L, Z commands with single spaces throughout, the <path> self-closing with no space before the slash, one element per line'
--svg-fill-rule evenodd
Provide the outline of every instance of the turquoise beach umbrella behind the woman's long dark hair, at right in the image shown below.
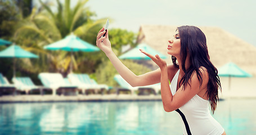
<path fill-rule="evenodd" d="M 247 78 L 252 77 L 249 73 L 242 70 L 234 64 L 233 62 L 229 62 L 226 65 L 222 66 L 218 69 L 219 77 L 228 77 L 228 89 L 230 89 L 231 77 L 239 77 L 239 78 Z"/>

